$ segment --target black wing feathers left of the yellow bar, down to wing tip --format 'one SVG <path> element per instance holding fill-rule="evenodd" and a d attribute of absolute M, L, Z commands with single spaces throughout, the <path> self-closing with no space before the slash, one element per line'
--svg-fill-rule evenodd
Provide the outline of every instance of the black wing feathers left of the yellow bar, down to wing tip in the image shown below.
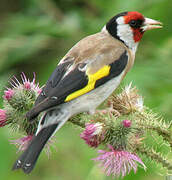
<path fill-rule="evenodd" d="M 68 65 L 70 64 L 60 64 L 52 73 L 34 107 L 26 114 L 29 120 L 34 119 L 40 112 L 63 103 L 69 94 L 88 84 L 85 72 L 78 69 L 79 65 L 64 77 Z"/>

